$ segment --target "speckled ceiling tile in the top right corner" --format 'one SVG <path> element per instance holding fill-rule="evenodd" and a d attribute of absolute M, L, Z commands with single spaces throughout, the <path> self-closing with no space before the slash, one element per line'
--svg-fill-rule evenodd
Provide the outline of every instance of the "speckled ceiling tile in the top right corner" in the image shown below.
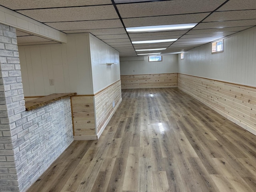
<path fill-rule="evenodd" d="M 231 0 L 217 11 L 256 9 L 255 0 Z"/>

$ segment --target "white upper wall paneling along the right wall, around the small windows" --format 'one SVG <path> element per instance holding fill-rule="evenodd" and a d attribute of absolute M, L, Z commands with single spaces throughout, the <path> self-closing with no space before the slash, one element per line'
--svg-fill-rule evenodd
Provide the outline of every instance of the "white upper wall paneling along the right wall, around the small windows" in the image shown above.
<path fill-rule="evenodd" d="M 206 44 L 184 57 L 178 56 L 179 73 L 256 86 L 256 27 L 225 38 L 222 53 L 211 54 Z"/>

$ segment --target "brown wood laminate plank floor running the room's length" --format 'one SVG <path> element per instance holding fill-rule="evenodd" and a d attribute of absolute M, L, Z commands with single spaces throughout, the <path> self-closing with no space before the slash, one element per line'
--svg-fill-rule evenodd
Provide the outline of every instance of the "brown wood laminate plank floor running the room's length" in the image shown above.
<path fill-rule="evenodd" d="M 178 88 L 122 90 L 99 140 L 74 141 L 28 192 L 255 192 L 256 136 Z"/>

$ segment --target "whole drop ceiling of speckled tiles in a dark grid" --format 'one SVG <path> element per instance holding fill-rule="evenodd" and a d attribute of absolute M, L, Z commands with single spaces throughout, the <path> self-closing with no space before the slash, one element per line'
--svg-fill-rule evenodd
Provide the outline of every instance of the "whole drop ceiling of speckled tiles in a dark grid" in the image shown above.
<path fill-rule="evenodd" d="M 66 34 L 90 32 L 120 56 L 137 56 L 144 52 L 135 50 L 150 48 L 166 48 L 162 54 L 183 52 L 256 26 L 255 0 L 0 0 L 0 5 Z M 126 31 L 127 27 L 187 23 L 198 24 L 190 30 Z M 173 38 L 178 40 L 132 44 Z M 18 45 L 58 43 L 21 31 L 17 41 Z"/>

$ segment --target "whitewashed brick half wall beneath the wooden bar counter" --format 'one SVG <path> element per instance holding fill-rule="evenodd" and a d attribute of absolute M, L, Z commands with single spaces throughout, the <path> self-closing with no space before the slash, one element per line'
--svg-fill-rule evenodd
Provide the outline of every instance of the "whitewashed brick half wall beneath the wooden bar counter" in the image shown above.
<path fill-rule="evenodd" d="M 25 191 L 73 142 L 70 98 L 21 116 L 11 133 L 16 139 L 13 147 L 20 190 Z"/>

